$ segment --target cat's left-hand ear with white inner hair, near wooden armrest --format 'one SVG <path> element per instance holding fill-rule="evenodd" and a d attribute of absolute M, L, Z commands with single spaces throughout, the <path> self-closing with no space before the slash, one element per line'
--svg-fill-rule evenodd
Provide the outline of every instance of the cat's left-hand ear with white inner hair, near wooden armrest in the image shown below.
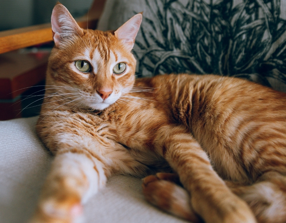
<path fill-rule="evenodd" d="M 76 20 L 61 3 L 57 3 L 53 8 L 51 25 L 53 40 L 58 48 L 70 44 L 77 35 L 84 34 Z"/>

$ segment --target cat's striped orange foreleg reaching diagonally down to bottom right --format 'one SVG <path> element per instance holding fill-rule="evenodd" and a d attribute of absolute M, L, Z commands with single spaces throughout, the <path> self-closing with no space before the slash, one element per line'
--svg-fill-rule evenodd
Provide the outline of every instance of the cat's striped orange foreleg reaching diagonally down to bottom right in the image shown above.
<path fill-rule="evenodd" d="M 186 130 L 162 128 L 160 139 L 164 140 L 162 155 L 178 173 L 192 207 L 205 222 L 256 222 L 247 203 L 231 192 Z"/>

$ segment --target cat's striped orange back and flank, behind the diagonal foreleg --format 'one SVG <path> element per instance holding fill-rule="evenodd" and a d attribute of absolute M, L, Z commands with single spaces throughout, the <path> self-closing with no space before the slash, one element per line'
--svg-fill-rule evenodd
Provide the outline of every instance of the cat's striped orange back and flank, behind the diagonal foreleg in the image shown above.
<path fill-rule="evenodd" d="M 263 171 L 286 173 L 281 169 L 286 158 L 285 93 L 216 75 L 163 75 L 148 81 L 160 89 L 172 116 L 188 127 L 220 176 L 251 181 Z"/>

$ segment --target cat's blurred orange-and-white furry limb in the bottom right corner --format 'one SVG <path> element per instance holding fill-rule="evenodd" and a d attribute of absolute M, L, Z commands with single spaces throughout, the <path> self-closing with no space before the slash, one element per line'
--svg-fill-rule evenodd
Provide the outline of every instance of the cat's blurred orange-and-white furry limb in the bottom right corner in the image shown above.
<path fill-rule="evenodd" d="M 250 186 L 226 184 L 249 204 L 259 223 L 286 222 L 286 177 L 282 174 L 267 172 Z"/>

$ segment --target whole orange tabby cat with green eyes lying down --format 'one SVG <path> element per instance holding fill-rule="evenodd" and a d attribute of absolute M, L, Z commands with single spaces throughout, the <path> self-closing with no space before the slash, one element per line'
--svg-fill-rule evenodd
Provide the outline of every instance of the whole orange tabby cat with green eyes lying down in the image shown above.
<path fill-rule="evenodd" d="M 135 81 L 141 20 L 86 30 L 54 7 L 37 132 L 55 159 L 32 221 L 75 222 L 112 174 L 161 171 L 178 175 L 148 176 L 144 194 L 182 218 L 286 222 L 286 95 L 215 75 Z"/>

